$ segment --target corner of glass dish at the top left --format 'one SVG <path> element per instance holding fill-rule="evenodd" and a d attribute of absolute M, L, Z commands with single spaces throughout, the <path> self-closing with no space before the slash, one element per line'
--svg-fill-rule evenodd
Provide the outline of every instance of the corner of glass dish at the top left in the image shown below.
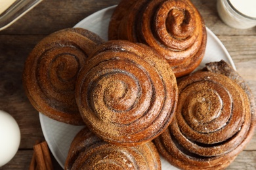
<path fill-rule="evenodd" d="M 5 29 L 43 0 L 0 0 L 0 30 Z"/>

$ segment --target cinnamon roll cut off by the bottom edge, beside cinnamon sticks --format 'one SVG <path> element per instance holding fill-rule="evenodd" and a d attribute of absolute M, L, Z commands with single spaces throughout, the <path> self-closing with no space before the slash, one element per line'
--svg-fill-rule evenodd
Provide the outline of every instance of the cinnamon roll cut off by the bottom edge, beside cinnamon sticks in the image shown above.
<path fill-rule="evenodd" d="M 72 141 L 64 169 L 154 169 L 160 170 L 160 156 L 152 142 L 139 146 L 109 144 L 87 127 Z"/>

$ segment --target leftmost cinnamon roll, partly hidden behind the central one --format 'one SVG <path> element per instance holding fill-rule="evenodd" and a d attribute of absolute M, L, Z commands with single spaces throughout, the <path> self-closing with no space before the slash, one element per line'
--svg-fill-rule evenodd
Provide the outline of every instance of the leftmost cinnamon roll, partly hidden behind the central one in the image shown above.
<path fill-rule="evenodd" d="M 84 124 L 75 102 L 75 80 L 85 59 L 104 42 L 82 28 L 56 31 L 40 41 L 26 59 L 25 92 L 33 107 L 67 124 Z"/>

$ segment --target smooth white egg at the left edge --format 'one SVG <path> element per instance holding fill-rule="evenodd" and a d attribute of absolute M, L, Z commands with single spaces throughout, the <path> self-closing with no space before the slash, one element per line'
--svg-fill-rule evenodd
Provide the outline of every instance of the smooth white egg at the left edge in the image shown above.
<path fill-rule="evenodd" d="M 14 118 L 0 110 L 0 167 L 8 163 L 20 146 L 20 128 Z"/>

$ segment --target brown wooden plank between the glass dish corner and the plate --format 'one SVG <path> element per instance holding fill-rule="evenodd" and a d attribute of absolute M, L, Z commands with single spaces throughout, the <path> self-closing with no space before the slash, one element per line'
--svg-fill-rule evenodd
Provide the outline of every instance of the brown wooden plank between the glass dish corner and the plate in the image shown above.
<path fill-rule="evenodd" d="M 49 35 L 59 29 L 74 27 L 77 22 L 94 12 L 116 5 L 120 0 L 44 0 L 0 34 Z M 25 24 L 26 23 L 26 24 Z"/>

